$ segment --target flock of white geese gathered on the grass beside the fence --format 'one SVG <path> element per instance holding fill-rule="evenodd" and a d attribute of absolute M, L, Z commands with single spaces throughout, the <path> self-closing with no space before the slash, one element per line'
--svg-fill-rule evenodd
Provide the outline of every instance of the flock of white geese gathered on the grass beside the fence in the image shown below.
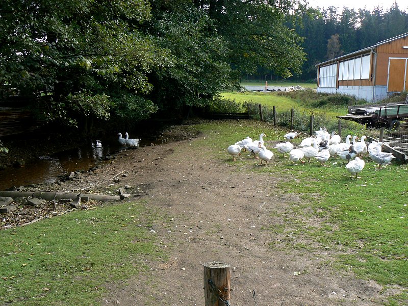
<path fill-rule="evenodd" d="M 267 165 L 272 159 L 273 152 L 265 147 L 263 139 L 265 136 L 262 133 L 259 135 L 259 140 L 254 141 L 250 137 L 246 137 L 230 145 L 227 151 L 234 161 L 241 155 L 242 150 L 250 152 L 254 158 L 258 158 L 258 154 L 261 160 L 260 165 L 263 162 Z M 304 138 L 299 146 L 295 148 L 291 140 L 298 136 L 297 132 L 288 133 L 283 136 L 288 141 L 278 143 L 273 148 L 283 154 L 283 157 L 285 157 L 285 154 L 289 154 L 289 159 L 294 164 L 297 162 L 304 164 L 306 159 L 310 163 L 310 160 L 315 158 L 324 166 L 329 158 L 341 158 L 347 161 L 345 168 L 350 172 L 351 177 L 357 177 L 358 173 L 364 169 L 363 157 L 367 156 L 367 154 L 378 164 L 378 169 L 381 166 L 389 165 L 392 159 L 395 158 L 391 153 L 382 152 L 382 142 L 373 141 L 367 146 L 366 136 L 362 136 L 360 141 L 357 141 L 357 136 L 347 135 L 346 141 L 341 142 L 341 137 L 336 132 L 330 134 L 324 127 L 321 127 L 319 131 L 315 131 L 314 137 Z"/>

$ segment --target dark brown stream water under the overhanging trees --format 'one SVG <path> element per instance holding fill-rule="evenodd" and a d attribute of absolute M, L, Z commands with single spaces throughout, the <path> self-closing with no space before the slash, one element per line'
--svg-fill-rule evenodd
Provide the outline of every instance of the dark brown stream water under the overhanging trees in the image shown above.
<path fill-rule="evenodd" d="M 118 143 L 109 140 L 95 140 L 90 144 L 75 149 L 59 152 L 55 155 L 42 156 L 26 164 L 23 168 L 9 167 L 0 170 L 0 190 L 38 183 L 53 183 L 59 175 L 71 171 L 88 170 L 103 161 L 105 156 L 121 149 Z"/>

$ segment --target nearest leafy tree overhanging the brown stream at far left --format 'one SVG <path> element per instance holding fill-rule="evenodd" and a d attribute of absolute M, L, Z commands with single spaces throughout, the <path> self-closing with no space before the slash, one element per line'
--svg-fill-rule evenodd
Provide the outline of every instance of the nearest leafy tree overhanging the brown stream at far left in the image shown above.
<path fill-rule="evenodd" d="M 5 0 L 0 8 L 0 84 L 31 98 L 47 120 L 77 124 L 156 110 L 146 74 L 163 56 L 138 25 L 144 0 Z M 86 121 L 86 120 L 85 120 Z"/>

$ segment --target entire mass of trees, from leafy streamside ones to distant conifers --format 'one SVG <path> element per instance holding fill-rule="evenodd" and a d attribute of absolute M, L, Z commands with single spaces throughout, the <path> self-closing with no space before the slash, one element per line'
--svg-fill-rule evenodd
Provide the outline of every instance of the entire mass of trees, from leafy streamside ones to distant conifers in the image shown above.
<path fill-rule="evenodd" d="M 295 0 L 5 0 L 0 107 L 18 97 L 40 122 L 84 133 L 183 117 L 246 75 L 314 79 L 317 62 L 407 27 L 397 5 L 339 12 Z"/>

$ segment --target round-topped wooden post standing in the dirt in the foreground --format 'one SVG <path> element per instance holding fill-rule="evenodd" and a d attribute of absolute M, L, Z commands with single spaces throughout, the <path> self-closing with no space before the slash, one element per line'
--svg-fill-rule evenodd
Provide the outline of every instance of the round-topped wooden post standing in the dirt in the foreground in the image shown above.
<path fill-rule="evenodd" d="M 231 267 L 225 263 L 204 264 L 205 306 L 225 306 L 230 304 Z"/>

